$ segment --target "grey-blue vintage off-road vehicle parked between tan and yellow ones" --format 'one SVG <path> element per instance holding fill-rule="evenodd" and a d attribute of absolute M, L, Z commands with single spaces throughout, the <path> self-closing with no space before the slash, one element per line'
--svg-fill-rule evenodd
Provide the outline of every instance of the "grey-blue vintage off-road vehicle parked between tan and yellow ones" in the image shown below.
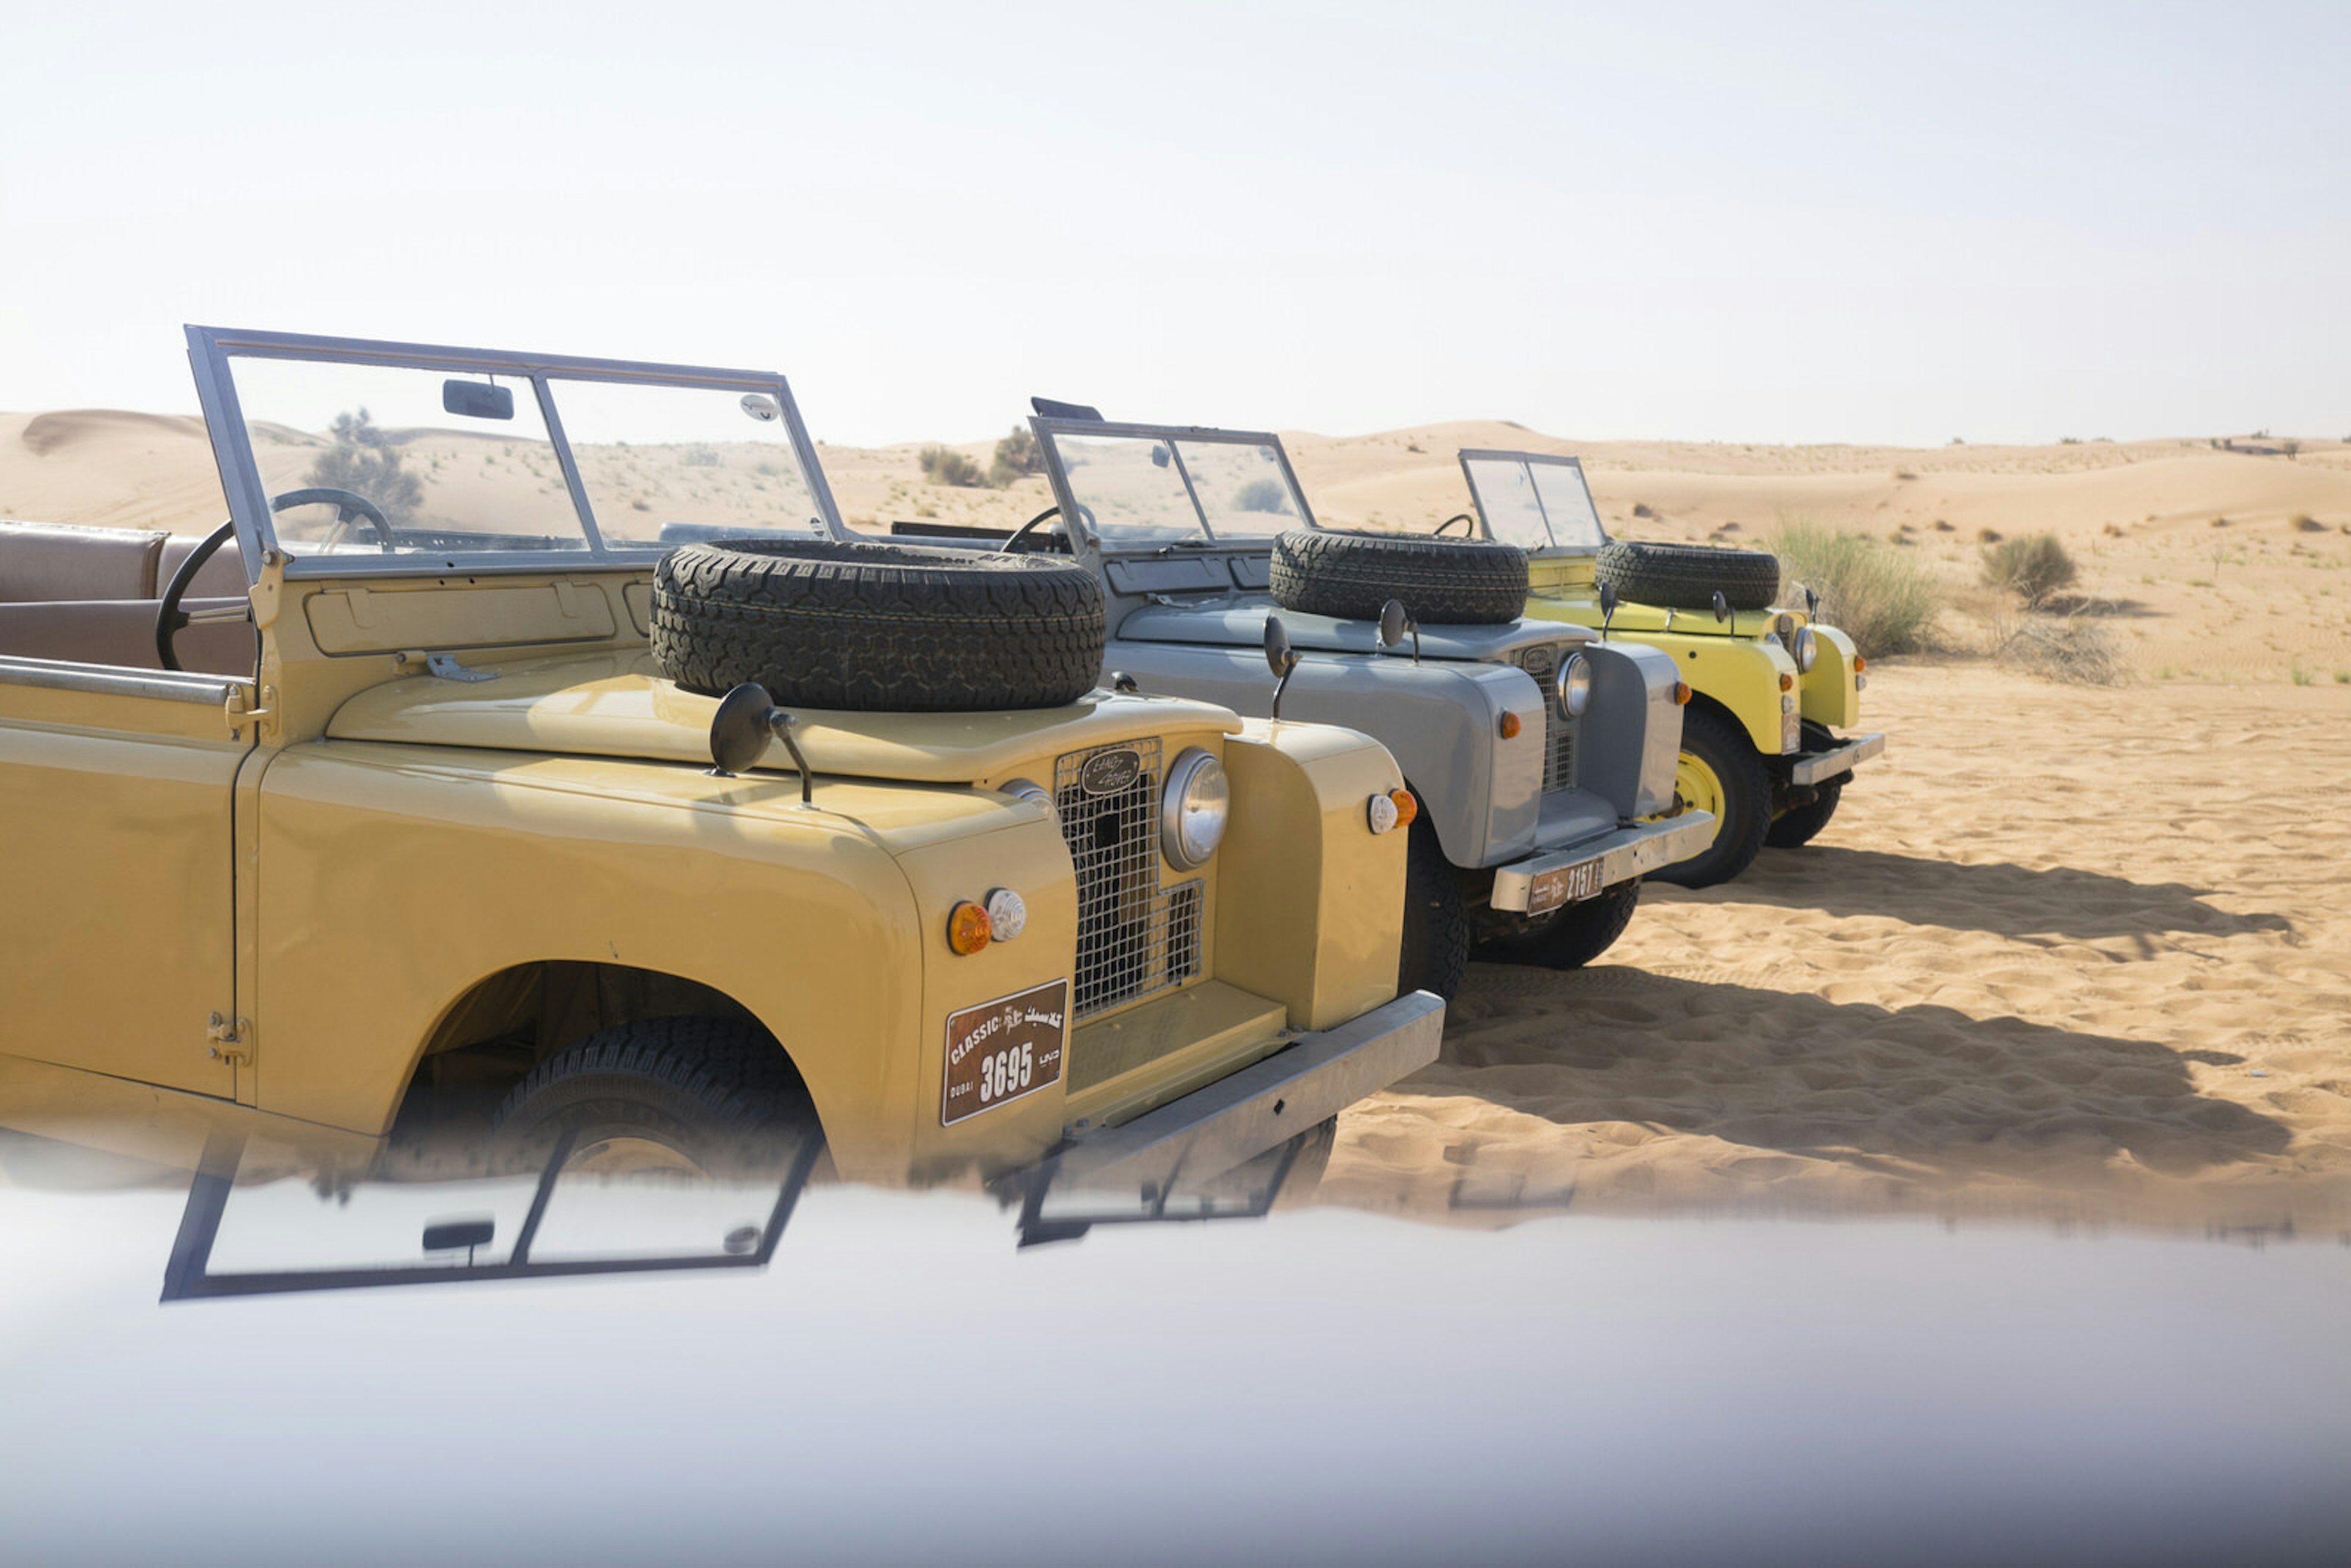
<path fill-rule="evenodd" d="M 1286 670 L 1281 715 L 1396 755 L 1420 802 L 1406 987 L 1453 994 L 1472 952 L 1587 964 L 1625 931 L 1641 877 L 1712 837 L 1674 806 L 1674 661 L 1523 618 L 1514 545 L 1321 529 L 1270 433 L 1034 407 L 1056 508 L 1002 550 L 1063 550 L 1100 576 L 1112 684 L 1270 715 L 1262 656 Z"/>

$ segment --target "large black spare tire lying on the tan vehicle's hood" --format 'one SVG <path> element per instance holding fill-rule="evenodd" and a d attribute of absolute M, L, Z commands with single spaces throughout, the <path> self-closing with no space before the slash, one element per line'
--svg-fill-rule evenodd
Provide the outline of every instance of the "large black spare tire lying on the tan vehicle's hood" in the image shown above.
<path fill-rule="evenodd" d="M 759 682 L 858 712 L 1060 708 L 1103 675 L 1103 585 L 1049 555 L 823 538 L 679 545 L 654 661 L 686 691 Z"/>

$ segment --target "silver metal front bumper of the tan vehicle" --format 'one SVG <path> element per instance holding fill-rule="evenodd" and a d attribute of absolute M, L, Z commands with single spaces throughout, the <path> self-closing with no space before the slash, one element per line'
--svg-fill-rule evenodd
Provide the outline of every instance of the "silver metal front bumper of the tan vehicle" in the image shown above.
<path fill-rule="evenodd" d="M 1335 1030 L 1241 1067 L 1121 1126 L 1086 1133 L 1056 1154 L 1051 1185 L 1140 1192 L 1145 1201 L 1180 1173 L 1208 1180 L 1340 1114 L 1436 1060 L 1446 1004 L 1411 992 Z"/>

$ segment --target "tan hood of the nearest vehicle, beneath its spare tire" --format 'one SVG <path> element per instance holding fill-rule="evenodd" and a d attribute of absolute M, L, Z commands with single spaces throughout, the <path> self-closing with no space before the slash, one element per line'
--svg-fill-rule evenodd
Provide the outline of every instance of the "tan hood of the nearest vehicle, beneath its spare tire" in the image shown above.
<path fill-rule="evenodd" d="M 465 745 L 574 757 L 710 764 L 717 698 L 679 691 L 651 654 L 569 654 L 482 663 L 487 682 L 411 675 L 369 686 L 327 722 L 336 741 Z M 818 773 L 907 783 L 997 778 L 1039 752 L 1067 752 L 1168 729 L 1241 722 L 1183 698 L 1096 693 L 1067 708 L 1013 712 L 832 712 L 795 708 L 799 745 Z M 769 764 L 790 771 L 783 748 Z"/>

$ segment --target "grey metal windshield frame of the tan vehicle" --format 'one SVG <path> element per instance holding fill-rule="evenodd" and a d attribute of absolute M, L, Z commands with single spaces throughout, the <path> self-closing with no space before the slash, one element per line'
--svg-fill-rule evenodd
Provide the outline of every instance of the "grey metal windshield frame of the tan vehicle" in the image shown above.
<path fill-rule="evenodd" d="M 595 508 L 581 482 L 571 444 L 564 440 L 562 414 L 548 381 L 623 381 L 639 386 L 684 386 L 722 393 L 764 393 L 783 409 L 792 435 L 792 456 L 809 482 L 818 520 L 830 538 L 849 538 L 832 487 L 816 461 L 816 442 L 799 418 L 792 388 L 781 371 L 719 369 L 708 364 L 661 364 L 642 360 L 592 360 L 578 355 L 531 355 L 494 348 L 451 348 L 440 343 L 388 343 L 376 339 L 334 339 L 301 331 L 245 331 L 230 327 L 188 327 L 188 364 L 195 371 L 195 395 L 205 409 L 212 437 L 212 461 L 221 470 L 228 517 L 235 522 L 237 548 L 249 581 L 261 578 L 263 552 L 284 562 L 287 578 L 346 576 L 447 576 L 451 569 L 473 574 L 581 571 L 590 567 L 651 567 L 677 545 L 611 545 L 597 531 Z M 447 371 L 451 376 L 508 376 L 527 381 L 548 425 L 548 442 L 562 468 L 571 508 L 581 522 L 581 545 L 560 550 L 449 550 L 414 555 L 294 555 L 280 548 L 268 487 L 245 433 L 245 409 L 230 360 L 315 360 L 327 364 L 386 364 L 395 369 Z"/>

